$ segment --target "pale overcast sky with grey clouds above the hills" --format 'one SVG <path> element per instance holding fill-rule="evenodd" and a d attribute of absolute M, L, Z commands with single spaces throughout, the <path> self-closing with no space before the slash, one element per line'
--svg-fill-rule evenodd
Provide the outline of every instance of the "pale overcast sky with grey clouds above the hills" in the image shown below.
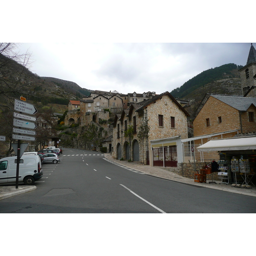
<path fill-rule="evenodd" d="M 256 44 L 254 44 L 256 47 Z M 23 43 L 30 70 L 90 90 L 157 94 L 210 68 L 245 65 L 250 43 Z"/>

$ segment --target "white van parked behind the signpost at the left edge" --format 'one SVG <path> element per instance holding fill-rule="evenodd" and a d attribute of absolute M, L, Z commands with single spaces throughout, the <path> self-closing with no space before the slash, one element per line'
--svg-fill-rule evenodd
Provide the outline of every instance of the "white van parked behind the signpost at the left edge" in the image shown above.
<path fill-rule="evenodd" d="M 0 184 L 16 182 L 17 157 L 0 159 Z M 34 185 L 43 176 L 41 160 L 38 155 L 22 155 L 19 165 L 19 182 Z"/>

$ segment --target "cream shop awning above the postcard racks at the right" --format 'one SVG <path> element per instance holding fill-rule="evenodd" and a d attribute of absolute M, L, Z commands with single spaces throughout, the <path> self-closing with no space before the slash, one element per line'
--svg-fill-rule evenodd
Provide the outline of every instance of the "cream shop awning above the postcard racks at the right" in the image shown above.
<path fill-rule="evenodd" d="M 210 140 L 199 146 L 198 151 L 230 151 L 256 149 L 256 136 Z"/>

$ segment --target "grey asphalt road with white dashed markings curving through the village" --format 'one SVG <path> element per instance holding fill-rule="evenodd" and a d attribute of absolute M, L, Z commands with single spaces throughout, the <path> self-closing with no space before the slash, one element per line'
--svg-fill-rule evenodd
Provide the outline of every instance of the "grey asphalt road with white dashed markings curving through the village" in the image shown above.
<path fill-rule="evenodd" d="M 37 189 L 0 201 L 1 213 L 255 213 L 256 198 L 151 177 L 95 151 L 64 148 Z"/>

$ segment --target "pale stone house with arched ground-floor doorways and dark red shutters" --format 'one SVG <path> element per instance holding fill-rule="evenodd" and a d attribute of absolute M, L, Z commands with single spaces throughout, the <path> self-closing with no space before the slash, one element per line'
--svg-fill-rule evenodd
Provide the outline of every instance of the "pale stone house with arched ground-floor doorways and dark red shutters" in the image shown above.
<path fill-rule="evenodd" d="M 180 140 L 188 136 L 188 116 L 169 92 L 131 104 L 122 114 L 116 114 L 113 158 L 157 166 L 177 166 L 177 162 L 182 161 Z M 148 134 L 145 132 L 147 127 Z"/>

